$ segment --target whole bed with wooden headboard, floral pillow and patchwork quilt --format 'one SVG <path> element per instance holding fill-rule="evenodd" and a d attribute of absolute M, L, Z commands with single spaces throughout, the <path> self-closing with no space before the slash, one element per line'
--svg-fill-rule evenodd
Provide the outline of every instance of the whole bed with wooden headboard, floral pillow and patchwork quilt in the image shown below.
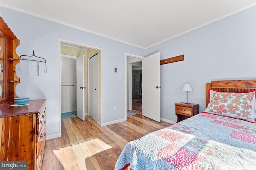
<path fill-rule="evenodd" d="M 206 110 L 129 142 L 115 170 L 256 169 L 256 80 L 206 84 Z"/>

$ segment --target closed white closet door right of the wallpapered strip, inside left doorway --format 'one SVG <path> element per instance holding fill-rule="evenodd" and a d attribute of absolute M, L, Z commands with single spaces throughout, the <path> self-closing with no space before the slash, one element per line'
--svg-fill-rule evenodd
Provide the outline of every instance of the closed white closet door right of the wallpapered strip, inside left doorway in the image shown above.
<path fill-rule="evenodd" d="M 98 54 L 89 61 L 89 114 L 98 121 Z"/>

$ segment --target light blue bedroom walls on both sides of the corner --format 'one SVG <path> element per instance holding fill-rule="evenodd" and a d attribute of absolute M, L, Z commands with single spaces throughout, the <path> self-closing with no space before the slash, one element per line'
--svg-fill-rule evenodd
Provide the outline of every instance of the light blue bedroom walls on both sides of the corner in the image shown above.
<path fill-rule="evenodd" d="M 52 21 L 0 7 L 0 15 L 20 39 L 18 55 L 45 57 L 48 72 L 26 62 L 17 71 L 17 94 L 31 99 L 47 98 L 47 135 L 60 132 L 59 39 L 102 48 L 102 123 L 124 119 L 125 53 L 144 56 L 145 50 Z M 146 49 L 146 56 L 160 52 L 161 59 L 185 55 L 185 60 L 161 65 L 161 117 L 176 121 L 176 102 L 186 102 L 182 86 L 189 82 L 189 102 L 205 109 L 205 83 L 212 80 L 256 79 L 256 7 L 249 8 L 184 35 Z M 104 26 L 104 25 L 102 25 Z M 114 73 L 118 68 L 118 74 Z M 113 111 L 117 107 L 117 111 Z"/>

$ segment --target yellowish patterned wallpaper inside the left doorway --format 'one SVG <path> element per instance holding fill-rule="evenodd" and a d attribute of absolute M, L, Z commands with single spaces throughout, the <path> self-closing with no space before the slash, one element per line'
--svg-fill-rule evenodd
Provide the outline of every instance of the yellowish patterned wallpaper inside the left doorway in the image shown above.
<path fill-rule="evenodd" d="M 66 41 L 61 41 L 64 43 L 67 43 Z M 70 43 L 72 45 L 77 45 L 80 47 L 87 47 L 85 45 L 79 45 L 76 43 Z M 61 45 L 60 53 L 64 55 L 72 55 L 79 57 L 80 55 L 84 54 L 84 85 L 86 86 L 86 90 L 84 90 L 84 107 L 85 107 L 85 113 L 88 113 L 88 58 L 91 57 L 93 54 L 95 54 L 98 51 L 98 122 L 102 123 L 101 117 L 101 49 L 97 49 L 94 47 L 87 47 L 88 50 L 83 49 L 77 49 L 73 47 L 67 47 L 64 45 Z"/>

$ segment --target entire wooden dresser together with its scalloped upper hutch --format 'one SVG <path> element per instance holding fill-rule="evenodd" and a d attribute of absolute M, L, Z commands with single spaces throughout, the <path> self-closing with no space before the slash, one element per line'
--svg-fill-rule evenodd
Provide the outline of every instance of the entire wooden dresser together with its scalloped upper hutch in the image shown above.
<path fill-rule="evenodd" d="M 28 106 L 12 107 L 20 41 L 0 17 L 0 160 L 28 161 L 28 170 L 42 167 L 46 141 L 46 100 L 30 100 Z"/>

